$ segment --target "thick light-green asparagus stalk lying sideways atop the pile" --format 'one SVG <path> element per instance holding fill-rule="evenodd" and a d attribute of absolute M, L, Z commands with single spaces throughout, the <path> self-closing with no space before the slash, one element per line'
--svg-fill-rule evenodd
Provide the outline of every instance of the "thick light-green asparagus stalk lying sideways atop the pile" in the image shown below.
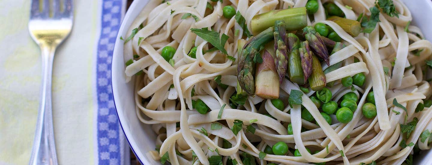
<path fill-rule="evenodd" d="M 251 20 L 251 28 L 254 34 L 258 34 L 265 29 L 272 27 L 277 20 L 289 22 L 286 26 L 287 31 L 295 31 L 308 25 L 306 18 L 306 8 L 292 8 L 283 10 L 271 10 L 255 15 Z"/>

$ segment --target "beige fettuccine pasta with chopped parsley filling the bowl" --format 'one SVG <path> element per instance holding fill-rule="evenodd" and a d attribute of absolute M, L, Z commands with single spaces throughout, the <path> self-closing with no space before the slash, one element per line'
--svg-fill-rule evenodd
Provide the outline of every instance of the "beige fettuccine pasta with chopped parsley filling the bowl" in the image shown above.
<path fill-rule="evenodd" d="M 275 9 L 309 9 L 308 0 L 150 0 L 130 26 L 130 38 L 124 37 L 125 78 L 135 84 L 137 117 L 158 135 L 157 150 L 149 155 L 172 165 L 400 165 L 414 150 L 430 149 L 432 108 L 426 102 L 432 94 L 427 76 L 432 44 L 419 28 L 409 25 L 412 16 L 407 7 L 393 0 L 398 17 L 378 12 L 379 22 L 372 31 L 353 36 L 327 20 L 331 13 L 326 5 L 337 6 L 346 19 L 360 16 L 359 21 L 365 22 L 372 17 L 375 0 L 316 1 L 317 10 L 307 15 L 305 23 L 325 24 L 344 45 L 329 56 L 329 65 L 321 61 L 321 67 L 326 71 L 340 64 L 324 72 L 330 102 L 341 107 L 346 95 L 356 96 L 348 122 L 339 121 L 338 110 L 328 115 L 329 123 L 322 115 L 326 102 L 315 103 L 318 91 L 290 81 L 288 73 L 281 83 L 277 81 L 282 109 L 271 99 L 236 95 L 241 90 L 238 47 L 246 47 L 239 46 L 239 40 L 257 35 L 252 33 L 254 16 Z M 225 6 L 232 6 L 237 15 L 226 18 Z M 240 15 L 244 23 L 238 21 Z M 220 46 L 226 53 L 191 29 L 226 35 Z M 287 31 L 291 32 L 299 35 Z M 169 59 L 163 55 L 167 46 L 174 48 Z M 343 78 L 355 79 L 358 74 L 365 75 L 364 84 L 344 84 Z M 301 104 L 290 102 L 296 91 L 301 92 Z M 371 102 L 372 91 L 376 115 L 366 118 L 363 109 Z M 196 106 L 208 111 L 202 113 Z M 305 119 L 303 111 L 313 119 Z M 278 143 L 285 143 L 288 151 L 276 154 L 272 146 Z"/>

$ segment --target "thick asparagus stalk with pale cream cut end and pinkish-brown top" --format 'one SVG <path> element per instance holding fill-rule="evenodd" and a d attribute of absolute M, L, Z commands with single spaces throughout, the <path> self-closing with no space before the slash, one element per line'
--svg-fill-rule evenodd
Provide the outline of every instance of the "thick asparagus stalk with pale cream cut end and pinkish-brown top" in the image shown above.
<path fill-rule="evenodd" d="M 263 62 L 257 65 L 255 94 L 264 99 L 279 98 L 279 78 L 272 55 L 264 50 Z"/>

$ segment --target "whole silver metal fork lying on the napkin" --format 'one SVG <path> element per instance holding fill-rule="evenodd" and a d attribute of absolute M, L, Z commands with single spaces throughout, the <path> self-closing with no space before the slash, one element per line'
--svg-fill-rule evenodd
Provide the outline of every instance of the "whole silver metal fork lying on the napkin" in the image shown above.
<path fill-rule="evenodd" d="M 55 50 L 69 35 L 72 23 L 72 0 L 32 0 L 29 31 L 41 49 L 42 87 L 29 165 L 57 165 L 52 121 L 51 76 Z"/>

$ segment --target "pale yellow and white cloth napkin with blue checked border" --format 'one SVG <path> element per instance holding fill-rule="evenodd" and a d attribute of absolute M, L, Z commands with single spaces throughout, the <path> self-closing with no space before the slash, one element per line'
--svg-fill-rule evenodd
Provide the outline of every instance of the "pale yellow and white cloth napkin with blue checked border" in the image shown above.
<path fill-rule="evenodd" d="M 41 55 L 28 31 L 30 0 L 0 0 L 0 164 L 28 164 Z M 70 36 L 53 67 L 53 122 L 60 165 L 128 165 L 111 89 L 111 59 L 126 0 L 75 0 Z"/>

